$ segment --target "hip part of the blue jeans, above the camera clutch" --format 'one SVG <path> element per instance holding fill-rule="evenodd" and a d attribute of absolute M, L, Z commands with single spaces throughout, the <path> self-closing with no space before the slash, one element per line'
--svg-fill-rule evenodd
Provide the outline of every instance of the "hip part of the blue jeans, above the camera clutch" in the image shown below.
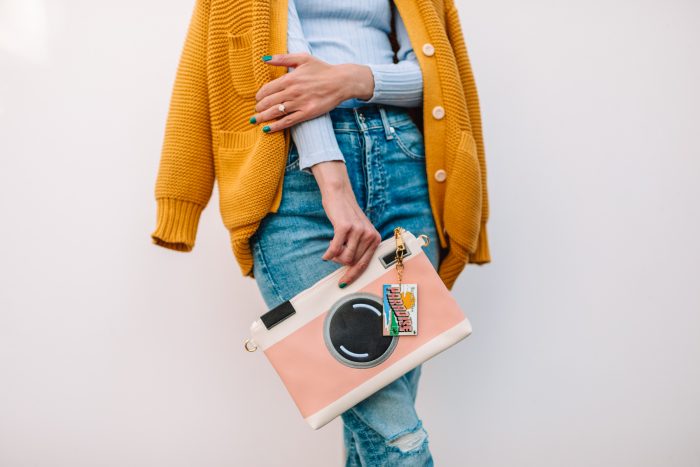
<path fill-rule="evenodd" d="M 334 132 L 358 205 L 382 239 L 396 226 L 431 240 L 425 253 L 437 269 L 437 231 L 428 195 L 421 132 L 405 109 L 370 104 L 336 108 Z M 298 166 L 290 145 L 282 200 L 251 237 L 254 276 L 268 306 L 287 300 L 341 267 L 321 256 L 334 236 L 313 174 Z"/>

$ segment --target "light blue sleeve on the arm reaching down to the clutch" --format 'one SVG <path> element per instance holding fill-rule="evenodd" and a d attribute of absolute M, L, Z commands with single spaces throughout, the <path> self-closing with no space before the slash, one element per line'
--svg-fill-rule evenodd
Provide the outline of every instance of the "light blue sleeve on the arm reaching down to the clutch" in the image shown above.
<path fill-rule="evenodd" d="M 294 0 L 288 0 L 287 52 L 307 52 L 312 54 L 311 46 L 304 37 L 299 14 Z M 288 67 L 292 72 L 294 67 Z M 311 166 L 319 162 L 345 161 L 338 146 L 330 114 L 305 120 L 290 127 L 291 136 L 299 152 L 299 169 L 313 174 Z"/>

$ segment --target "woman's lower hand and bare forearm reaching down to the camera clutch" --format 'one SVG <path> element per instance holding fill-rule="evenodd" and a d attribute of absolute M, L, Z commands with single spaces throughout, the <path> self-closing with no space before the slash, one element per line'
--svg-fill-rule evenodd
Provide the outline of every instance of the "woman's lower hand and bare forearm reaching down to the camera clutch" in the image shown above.
<path fill-rule="evenodd" d="M 381 235 L 357 204 L 343 161 L 320 162 L 312 165 L 311 171 L 334 230 L 333 240 L 322 258 L 350 266 L 338 281 L 342 288 L 367 269 Z"/>

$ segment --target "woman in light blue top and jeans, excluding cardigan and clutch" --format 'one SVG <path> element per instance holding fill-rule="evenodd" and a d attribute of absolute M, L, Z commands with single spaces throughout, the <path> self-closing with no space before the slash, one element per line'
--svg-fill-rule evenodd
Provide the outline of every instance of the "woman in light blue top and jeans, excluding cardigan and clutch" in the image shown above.
<path fill-rule="evenodd" d="M 293 139 L 279 210 L 251 238 L 255 278 L 269 308 L 343 265 L 349 267 L 339 287 L 350 284 L 395 226 L 437 238 L 423 137 L 406 109 L 422 103 L 421 70 L 392 8 L 387 0 L 288 0 L 288 52 L 311 55 L 263 57 L 271 66 L 300 63 L 290 67 L 293 84 L 277 79 L 260 89 L 251 118 L 266 132 L 291 127 Z M 336 79 L 326 62 L 352 67 L 355 80 Z M 338 95 L 355 97 L 336 106 Z M 275 121 L 284 116 L 277 103 L 297 121 L 309 117 L 297 109 L 330 113 L 296 124 Z M 425 252 L 437 269 L 437 242 Z M 418 366 L 342 414 L 346 465 L 432 465 L 414 408 L 420 373 Z"/>

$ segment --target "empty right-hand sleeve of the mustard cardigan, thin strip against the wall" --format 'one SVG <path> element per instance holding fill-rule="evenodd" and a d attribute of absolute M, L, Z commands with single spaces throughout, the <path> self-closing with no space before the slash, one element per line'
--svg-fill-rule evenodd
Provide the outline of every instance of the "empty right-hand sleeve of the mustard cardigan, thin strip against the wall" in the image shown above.
<path fill-rule="evenodd" d="M 464 87 L 464 94 L 467 99 L 467 107 L 469 120 L 471 123 L 472 136 L 476 141 L 477 155 L 481 171 L 481 189 L 482 189 L 482 212 L 481 212 L 481 230 L 479 232 L 479 240 L 477 242 L 476 251 L 469 258 L 470 263 L 483 264 L 491 261 L 491 253 L 488 244 L 488 234 L 486 223 L 489 219 L 489 199 L 488 189 L 486 185 L 486 159 L 484 154 L 484 137 L 481 128 L 481 111 L 479 107 L 479 96 L 477 94 L 476 82 L 474 73 L 472 72 L 467 47 L 464 42 L 462 33 L 462 25 L 459 19 L 459 12 L 454 5 L 453 0 L 445 0 L 445 15 L 447 28 L 447 37 L 454 50 L 455 58 L 459 74 Z"/>

